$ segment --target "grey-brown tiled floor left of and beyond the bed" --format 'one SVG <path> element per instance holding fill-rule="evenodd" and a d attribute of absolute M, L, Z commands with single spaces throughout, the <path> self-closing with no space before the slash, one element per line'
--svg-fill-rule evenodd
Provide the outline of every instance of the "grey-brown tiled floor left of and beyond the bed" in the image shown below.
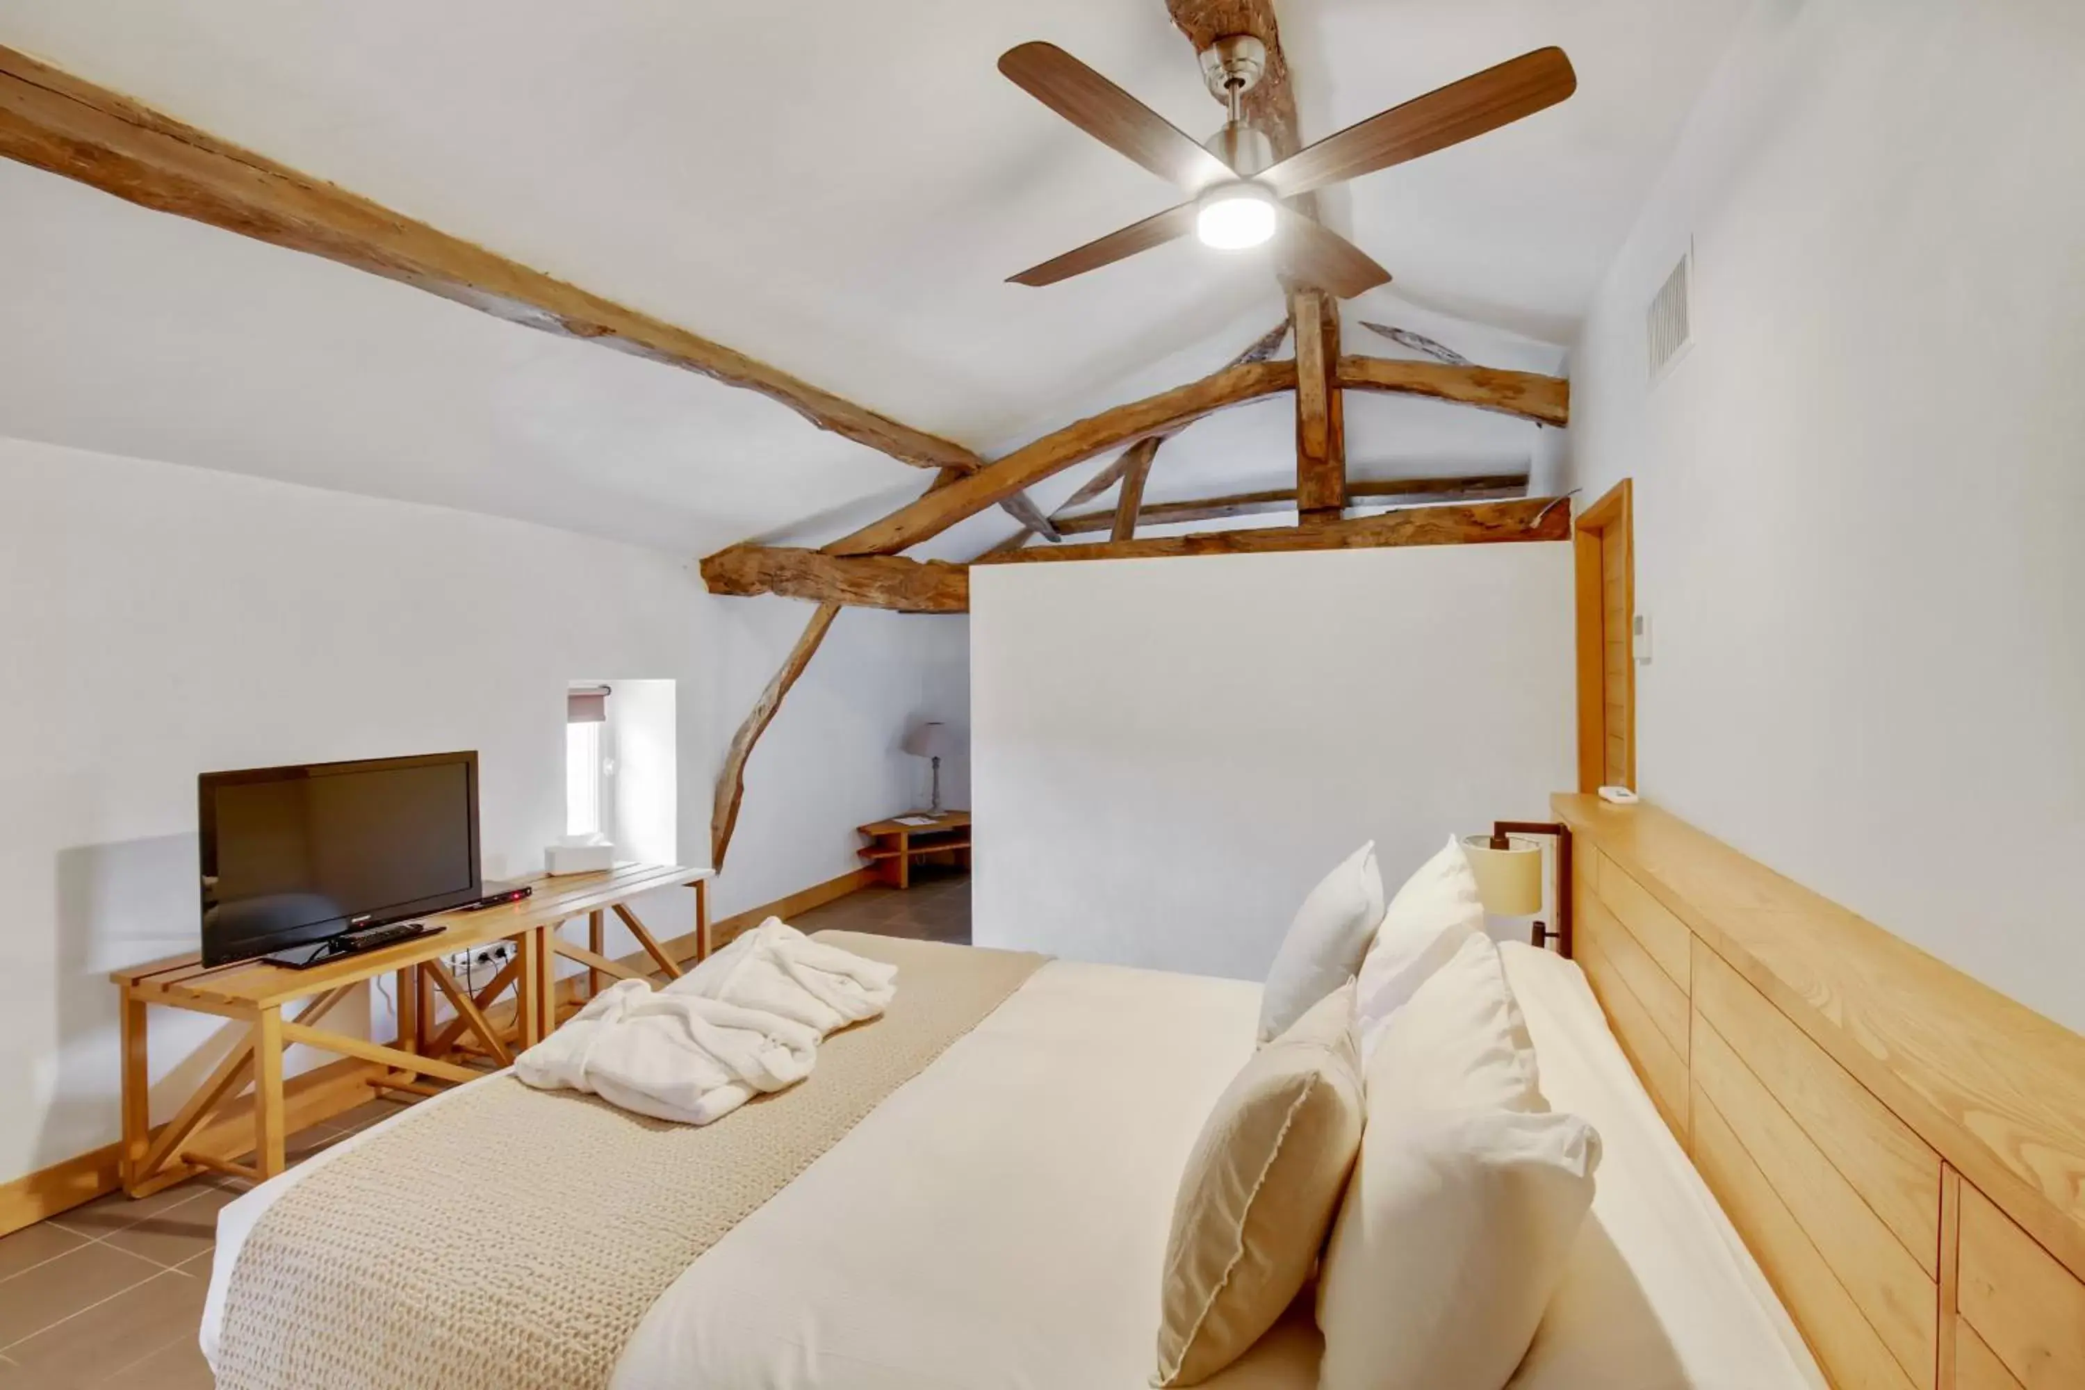
<path fill-rule="evenodd" d="M 967 942 L 970 877 L 924 869 L 907 892 L 865 888 L 792 925 Z M 371 1100 L 292 1136 L 290 1163 L 400 1104 Z M 196 1177 L 142 1202 L 117 1192 L 0 1236 L 0 1390 L 208 1390 L 196 1327 L 217 1213 L 244 1188 Z"/>

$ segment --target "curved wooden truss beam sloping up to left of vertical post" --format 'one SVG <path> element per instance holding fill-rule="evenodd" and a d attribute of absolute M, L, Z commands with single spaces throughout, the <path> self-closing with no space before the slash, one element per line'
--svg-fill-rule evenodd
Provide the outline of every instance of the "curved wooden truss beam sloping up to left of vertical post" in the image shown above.
<path fill-rule="evenodd" d="M 1074 463 L 1093 458 L 1120 444 L 1132 444 L 1145 436 L 1170 433 L 1188 421 L 1226 406 L 1295 390 L 1295 363 L 1245 363 L 1241 367 L 1226 367 L 1201 381 L 1188 381 L 1170 392 L 1132 400 L 1113 411 L 1101 411 L 1013 450 L 970 477 L 928 492 L 882 521 L 872 521 L 853 536 L 842 536 L 826 546 L 826 552 L 894 554 L 947 531 L 957 521 L 974 517 L 986 506 L 1003 502 L 1022 488 L 1070 469 Z"/>

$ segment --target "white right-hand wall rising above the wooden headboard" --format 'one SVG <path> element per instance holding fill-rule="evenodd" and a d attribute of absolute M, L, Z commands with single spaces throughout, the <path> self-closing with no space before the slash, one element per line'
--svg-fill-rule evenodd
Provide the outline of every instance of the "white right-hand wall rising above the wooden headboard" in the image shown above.
<path fill-rule="evenodd" d="M 2081 75 L 2075 0 L 1758 4 L 1574 352 L 1566 461 L 1635 477 L 1643 792 L 2070 1027 Z"/>

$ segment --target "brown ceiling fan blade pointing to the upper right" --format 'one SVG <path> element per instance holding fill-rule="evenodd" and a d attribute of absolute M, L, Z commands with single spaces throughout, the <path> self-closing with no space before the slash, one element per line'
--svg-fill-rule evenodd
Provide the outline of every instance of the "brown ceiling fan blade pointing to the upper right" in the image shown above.
<path fill-rule="evenodd" d="M 1578 90 L 1562 48 L 1537 48 L 1451 81 L 1291 154 L 1259 175 L 1280 198 L 1343 183 L 1512 125 Z"/>

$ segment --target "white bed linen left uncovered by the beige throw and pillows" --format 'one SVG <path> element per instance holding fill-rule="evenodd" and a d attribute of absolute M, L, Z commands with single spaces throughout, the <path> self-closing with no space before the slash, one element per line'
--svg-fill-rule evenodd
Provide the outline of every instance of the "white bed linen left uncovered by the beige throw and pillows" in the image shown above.
<path fill-rule="evenodd" d="M 1528 946 L 1503 957 L 1543 1090 L 1605 1142 L 1593 1217 L 1514 1386 L 1824 1386 L 1585 975 Z M 1257 1009 L 1253 984 L 1042 965 L 671 1280 L 609 1384 L 1145 1386 L 1178 1173 L 1253 1048 Z M 388 1132 L 440 1125 L 444 1109 L 494 1082 L 427 1100 L 223 1211 L 202 1325 L 213 1365 L 234 1269 L 269 1209 Z M 492 1323 L 486 1336 L 498 1336 Z M 1316 1384 L 1316 1363 L 1305 1296 L 1209 1384 L 1301 1390 Z"/>

